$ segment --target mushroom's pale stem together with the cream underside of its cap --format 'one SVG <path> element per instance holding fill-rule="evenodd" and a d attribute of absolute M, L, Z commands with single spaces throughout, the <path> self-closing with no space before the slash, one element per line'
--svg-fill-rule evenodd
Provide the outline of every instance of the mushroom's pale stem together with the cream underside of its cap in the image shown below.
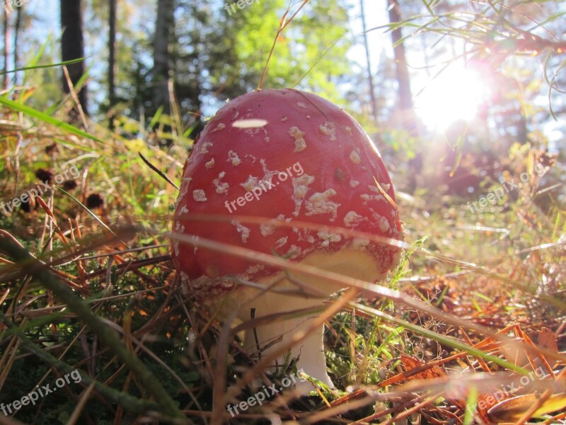
<path fill-rule="evenodd" d="M 383 277 L 379 273 L 373 257 L 364 251 L 352 249 L 342 249 L 333 253 L 313 253 L 300 263 L 308 266 L 316 266 L 321 270 L 338 273 L 342 276 L 350 276 L 369 282 Z M 292 276 L 292 282 L 289 280 Z M 308 276 L 302 273 L 279 272 L 276 275 L 262 278 L 258 283 L 264 288 L 277 288 L 279 290 L 294 290 L 295 292 L 311 290 L 311 293 L 330 295 L 340 289 L 340 285 L 330 283 L 318 276 Z M 299 314 L 299 310 L 323 307 L 323 299 L 320 297 L 307 297 L 306 295 L 284 295 L 275 290 L 260 291 L 253 288 L 243 289 L 243 295 L 238 305 L 238 319 L 246 322 L 250 319 L 250 309 L 255 309 L 255 318 L 286 314 L 296 312 L 294 317 L 289 319 L 273 319 L 271 322 L 260 324 L 255 329 L 246 331 L 244 344 L 246 351 L 257 358 L 258 346 L 262 356 L 269 356 L 270 353 L 279 350 L 283 345 L 290 346 L 289 353 L 292 360 L 299 358 L 296 366 L 298 369 L 323 382 L 329 387 L 334 387 L 332 380 L 326 371 L 326 358 L 324 355 L 323 333 L 324 327 L 313 331 L 313 319 L 318 317 L 318 313 L 308 315 Z M 292 343 L 293 337 L 299 333 L 306 333 L 305 339 L 299 343 Z M 258 341 L 255 341 L 255 336 Z M 281 338 L 281 341 L 277 341 Z M 277 342 L 275 342 L 277 341 Z M 267 348 L 265 348 L 267 346 Z M 265 349 L 263 349 L 265 348 Z M 285 356 L 276 358 L 277 365 L 285 363 Z M 275 364 L 275 362 L 274 362 Z M 272 368 L 275 371 L 275 366 Z M 299 395 L 308 395 L 313 390 L 310 382 L 301 382 L 296 387 Z"/>

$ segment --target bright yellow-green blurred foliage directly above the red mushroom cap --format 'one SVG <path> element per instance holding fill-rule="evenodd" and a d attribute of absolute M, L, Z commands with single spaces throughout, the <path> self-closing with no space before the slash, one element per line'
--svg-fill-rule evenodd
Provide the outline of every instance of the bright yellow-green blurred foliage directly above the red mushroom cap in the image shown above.
<path fill-rule="evenodd" d="M 341 3 L 339 0 L 311 1 L 303 9 L 304 13 L 294 18 L 277 39 L 265 88 L 294 86 L 306 76 L 299 88 L 337 98 L 333 82 L 350 73 L 341 60 L 350 47 L 345 38 L 347 9 Z M 283 0 L 265 0 L 227 19 L 233 26 L 229 39 L 236 52 L 236 63 L 229 72 L 224 69 L 223 75 L 229 81 L 246 81 L 245 86 L 240 86 L 240 93 L 257 86 L 286 6 Z M 287 19 L 294 11 L 296 7 L 287 13 Z"/>

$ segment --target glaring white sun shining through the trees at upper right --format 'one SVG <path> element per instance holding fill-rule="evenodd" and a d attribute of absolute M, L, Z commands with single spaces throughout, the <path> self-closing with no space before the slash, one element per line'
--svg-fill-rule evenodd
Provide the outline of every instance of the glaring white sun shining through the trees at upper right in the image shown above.
<path fill-rule="evenodd" d="M 445 130 L 457 120 L 473 120 L 490 92 L 489 81 L 480 72 L 454 64 L 423 85 L 415 96 L 415 112 L 431 130 Z"/>

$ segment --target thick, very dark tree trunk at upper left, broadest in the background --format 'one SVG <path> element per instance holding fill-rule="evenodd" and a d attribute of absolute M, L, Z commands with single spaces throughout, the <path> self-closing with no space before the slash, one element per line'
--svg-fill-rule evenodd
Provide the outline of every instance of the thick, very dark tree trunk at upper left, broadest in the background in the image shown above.
<path fill-rule="evenodd" d="M 83 42 L 83 13 L 81 8 L 81 0 L 61 0 L 61 28 L 63 35 L 61 37 L 62 60 L 74 60 L 84 57 Z M 76 86 L 85 72 L 84 61 L 67 65 L 71 84 Z M 63 91 L 70 93 L 70 87 L 67 79 L 63 77 Z M 83 109 L 83 113 L 88 115 L 86 85 L 77 94 L 79 103 Z M 71 118 L 76 118 L 73 115 Z"/>

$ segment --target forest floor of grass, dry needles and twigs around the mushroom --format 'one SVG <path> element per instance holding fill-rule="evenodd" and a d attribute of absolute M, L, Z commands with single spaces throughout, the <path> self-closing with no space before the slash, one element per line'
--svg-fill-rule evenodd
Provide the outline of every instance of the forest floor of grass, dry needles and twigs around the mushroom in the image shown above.
<path fill-rule="evenodd" d="M 466 205 L 481 196 L 409 195 L 394 176 L 410 249 L 381 284 L 401 302 L 350 301 L 328 317 L 337 390 L 313 382 L 310 397 L 282 392 L 232 415 L 253 396 L 253 365 L 174 284 L 164 233 L 178 192 L 139 157 L 178 183 L 191 141 L 4 115 L 0 423 L 564 423 L 566 213 L 538 202 L 560 170 L 536 149 L 509 162 L 524 184 L 480 210 Z M 34 188 L 40 198 L 21 203 Z"/>

